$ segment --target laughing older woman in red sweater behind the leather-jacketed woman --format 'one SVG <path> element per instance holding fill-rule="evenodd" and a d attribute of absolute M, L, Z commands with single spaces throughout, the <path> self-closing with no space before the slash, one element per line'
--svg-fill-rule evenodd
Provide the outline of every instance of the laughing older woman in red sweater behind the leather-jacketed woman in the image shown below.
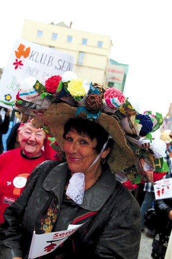
<path fill-rule="evenodd" d="M 47 160 L 41 149 L 46 139 L 43 129 L 34 128 L 31 122 L 18 128 L 20 148 L 0 155 L 0 223 L 4 210 L 22 193 L 32 170 Z"/>

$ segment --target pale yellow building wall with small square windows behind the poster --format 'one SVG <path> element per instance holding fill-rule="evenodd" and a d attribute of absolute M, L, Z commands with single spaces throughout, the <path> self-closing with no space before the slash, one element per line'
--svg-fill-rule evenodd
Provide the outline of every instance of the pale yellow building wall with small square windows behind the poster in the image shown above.
<path fill-rule="evenodd" d="M 43 31 L 41 37 L 37 31 Z M 52 39 L 52 33 L 57 33 L 57 39 Z M 72 42 L 67 42 L 67 36 L 72 36 Z M 73 71 L 78 77 L 89 82 L 106 83 L 106 71 L 112 47 L 110 36 L 74 30 L 63 22 L 60 24 L 45 24 L 37 21 L 24 20 L 21 38 L 74 56 Z M 82 44 L 82 39 L 87 44 Z M 102 47 L 97 47 L 97 41 L 102 41 Z M 78 64 L 79 53 L 84 52 L 83 64 Z"/>

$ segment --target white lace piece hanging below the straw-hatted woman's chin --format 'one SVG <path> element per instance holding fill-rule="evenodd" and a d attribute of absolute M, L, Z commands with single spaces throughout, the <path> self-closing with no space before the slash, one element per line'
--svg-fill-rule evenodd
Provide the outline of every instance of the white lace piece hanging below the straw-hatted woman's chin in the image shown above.
<path fill-rule="evenodd" d="M 85 175 L 83 173 L 75 173 L 69 180 L 66 195 L 69 196 L 77 204 L 83 203 L 85 188 Z"/>

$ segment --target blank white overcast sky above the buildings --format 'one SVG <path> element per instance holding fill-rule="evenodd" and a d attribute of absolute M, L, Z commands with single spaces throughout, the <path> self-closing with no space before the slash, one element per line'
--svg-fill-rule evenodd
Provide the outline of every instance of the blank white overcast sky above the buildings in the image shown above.
<path fill-rule="evenodd" d="M 108 35 L 110 58 L 128 64 L 125 97 L 139 112 L 165 116 L 172 102 L 171 0 L 5 0 L 0 5 L 0 67 L 5 67 L 24 19 Z"/>

